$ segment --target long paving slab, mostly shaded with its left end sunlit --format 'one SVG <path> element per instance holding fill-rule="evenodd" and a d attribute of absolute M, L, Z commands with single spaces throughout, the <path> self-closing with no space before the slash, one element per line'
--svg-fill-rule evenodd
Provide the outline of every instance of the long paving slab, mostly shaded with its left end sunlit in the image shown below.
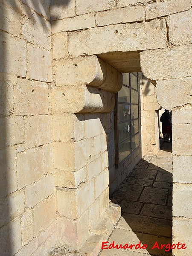
<path fill-rule="evenodd" d="M 119 228 L 134 232 L 170 237 L 172 221 L 149 216 L 124 213 L 118 224 Z"/>

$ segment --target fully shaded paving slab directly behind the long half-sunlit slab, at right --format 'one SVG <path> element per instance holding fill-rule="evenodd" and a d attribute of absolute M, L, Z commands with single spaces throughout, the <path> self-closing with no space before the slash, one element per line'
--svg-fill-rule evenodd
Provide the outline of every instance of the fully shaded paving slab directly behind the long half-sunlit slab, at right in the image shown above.
<path fill-rule="evenodd" d="M 172 207 L 156 204 L 145 204 L 141 215 L 172 220 Z"/>

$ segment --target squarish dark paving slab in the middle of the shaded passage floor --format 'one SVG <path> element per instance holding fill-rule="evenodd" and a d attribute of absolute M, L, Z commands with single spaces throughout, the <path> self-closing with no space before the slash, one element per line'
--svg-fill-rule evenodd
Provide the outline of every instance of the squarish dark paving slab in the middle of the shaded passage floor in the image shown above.
<path fill-rule="evenodd" d="M 139 201 L 148 204 L 165 205 L 168 195 L 168 189 L 145 187 Z"/>

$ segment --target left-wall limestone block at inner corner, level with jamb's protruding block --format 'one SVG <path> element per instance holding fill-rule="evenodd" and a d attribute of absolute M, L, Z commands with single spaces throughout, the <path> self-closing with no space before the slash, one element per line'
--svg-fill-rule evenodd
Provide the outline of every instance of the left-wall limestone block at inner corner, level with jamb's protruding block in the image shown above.
<path fill-rule="evenodd" d="M 54 179 L 52 175 L 45 175 L 41 180 L 26 186 L 26 207 L 31 208 L 54 193 Z"/>

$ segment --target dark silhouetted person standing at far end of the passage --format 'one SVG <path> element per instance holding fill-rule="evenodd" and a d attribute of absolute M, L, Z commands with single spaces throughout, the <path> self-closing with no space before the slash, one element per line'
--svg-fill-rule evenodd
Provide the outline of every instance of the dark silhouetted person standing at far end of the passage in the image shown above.
<path fill-rule="evenodd" d="M 163 141 L 172 143 L 172 119 L 169 114 L 169 110 L 165 109 L 165 112 L 160 117 L 160 121 L 162 122 L 162 134 L 163 134 Z"/>

